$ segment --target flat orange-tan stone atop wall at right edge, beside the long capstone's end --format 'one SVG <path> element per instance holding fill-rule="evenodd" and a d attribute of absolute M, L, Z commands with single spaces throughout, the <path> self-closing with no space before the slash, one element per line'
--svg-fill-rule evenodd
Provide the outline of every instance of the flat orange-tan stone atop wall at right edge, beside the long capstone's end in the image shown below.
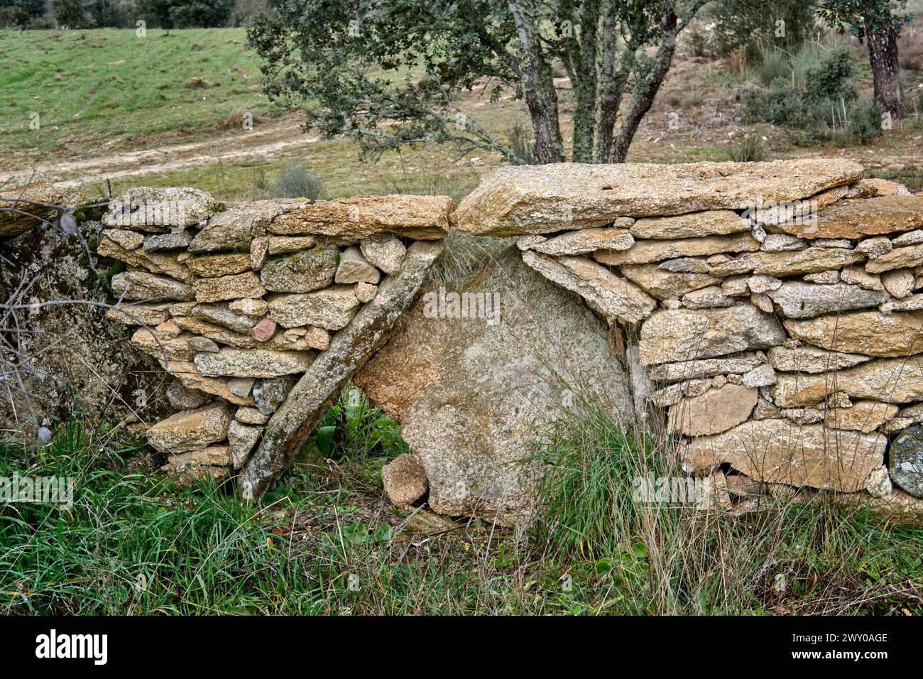
<path fill-rule="evenodd" d="M 921 225 L 923 196 L 893 195 L 839 200 L 821 210 L 817 224 L 798 220 L 770 228 L 800 238 L 858 238 L 912 231 Z"/>

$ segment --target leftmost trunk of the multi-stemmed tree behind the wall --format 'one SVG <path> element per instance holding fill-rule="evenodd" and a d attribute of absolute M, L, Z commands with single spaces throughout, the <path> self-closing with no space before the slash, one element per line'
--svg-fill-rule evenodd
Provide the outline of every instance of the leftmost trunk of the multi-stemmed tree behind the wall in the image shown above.
<path fill-rule="evenodd" d="M 557 120 L 557 91 L 551 69 L 542 54 L 533 19 L 523 15 L 518 0 L 508 0 L 508 5 L 522 49 L 522 92 L 535 130 L 535 157 L 541 164 L 563 163 L 564 142 Z"/>

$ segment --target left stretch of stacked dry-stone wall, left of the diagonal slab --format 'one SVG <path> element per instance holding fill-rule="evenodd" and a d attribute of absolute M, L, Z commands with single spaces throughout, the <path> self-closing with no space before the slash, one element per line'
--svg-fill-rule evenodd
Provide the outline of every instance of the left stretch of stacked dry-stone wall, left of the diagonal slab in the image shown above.
<path fill-rule="evenodd" d="M 294 383 L 400 277 L 414 240 L 445 236 L 453 208 L 416 196 L 225 206 L 191 188 L 115 200 L 98 253 L 127 269 L 109 316 L 141 326 L 132 344 L 176 378 L 180 412 L 148 430 L 164 470 L 223 479 L 245 467 Z"/>

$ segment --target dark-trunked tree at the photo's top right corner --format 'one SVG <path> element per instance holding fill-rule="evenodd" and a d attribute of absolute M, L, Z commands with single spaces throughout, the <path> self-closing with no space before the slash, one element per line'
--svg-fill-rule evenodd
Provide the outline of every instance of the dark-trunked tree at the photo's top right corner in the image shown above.
<path fill-rule="evenodd" d="M 906 0 L 823 0 L 821 15 L 838 30 L 866 42 L 875 101 L 892 117 L 904 115 L 897 77 L 897 38 L 912 14 L 900 15 Z"/>

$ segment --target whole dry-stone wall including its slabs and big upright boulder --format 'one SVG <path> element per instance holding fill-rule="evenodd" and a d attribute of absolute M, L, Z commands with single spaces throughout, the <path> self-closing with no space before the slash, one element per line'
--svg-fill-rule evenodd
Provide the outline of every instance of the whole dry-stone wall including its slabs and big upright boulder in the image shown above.
<path fill-rule="evenodd" d="M 504 522 L 554 409 L 509 385 L 567 370 L 663 418 L 689 473 L 923 496 L 923 197 L 857 164 L 503 168 L 457 209 L 137 189 L 102 222 L 127 264 L 109 315 L 176 379 L 148 434 L 168 471 L 258 496 L 355 377 L 416 455 L 386 467 L 392 499 Z M 499 327 L 421 320 L 450 225 L 517 237 L 464 284 L 505 300 Z"/>

